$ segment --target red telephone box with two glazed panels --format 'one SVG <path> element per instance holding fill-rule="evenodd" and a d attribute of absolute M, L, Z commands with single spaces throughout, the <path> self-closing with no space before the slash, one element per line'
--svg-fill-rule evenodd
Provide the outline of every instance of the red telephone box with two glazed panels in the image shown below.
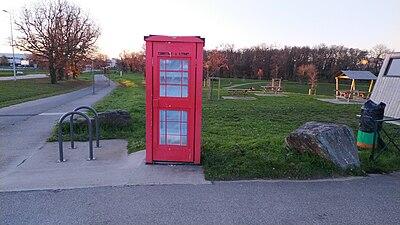
<path fill-rule="evenodd" d="M 200 164 L 201 37 L 150 35 L 146 41 L 146 163 Z"/>

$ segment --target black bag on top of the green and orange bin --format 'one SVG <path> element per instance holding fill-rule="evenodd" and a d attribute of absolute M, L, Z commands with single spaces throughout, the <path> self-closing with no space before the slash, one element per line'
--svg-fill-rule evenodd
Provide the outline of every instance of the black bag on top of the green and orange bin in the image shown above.
<path fill-rule="evenodd" d="M 374 132 L 375 131 L 375 120 L 381 120 L 385 114 L 386 104 L 381 102 L 376 104 L 375 102 L 368 100 L 361 107 L 361 117 L 360 117 L 360 130 L 364 132 Z M 377 124 L 377 131 L 382 129 L 382 122 Z"/>

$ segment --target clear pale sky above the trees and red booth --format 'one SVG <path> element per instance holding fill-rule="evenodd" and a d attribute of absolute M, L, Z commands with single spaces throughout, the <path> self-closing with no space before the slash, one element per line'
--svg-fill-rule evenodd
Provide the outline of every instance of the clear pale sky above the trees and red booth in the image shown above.
<path fill-rule="evenodd" d="M 2 0 L 13 11 L 35 1 Z M 200 35 L 206 48 L 265 43 L 345 45 L 400 51 L 400 0 L 72 0 L 101 27 L 100 51 L 118 57 L 138 51 L 143 36 Z M 11 52 L 8 15 L 0 12 L 0 52 Z"/>

